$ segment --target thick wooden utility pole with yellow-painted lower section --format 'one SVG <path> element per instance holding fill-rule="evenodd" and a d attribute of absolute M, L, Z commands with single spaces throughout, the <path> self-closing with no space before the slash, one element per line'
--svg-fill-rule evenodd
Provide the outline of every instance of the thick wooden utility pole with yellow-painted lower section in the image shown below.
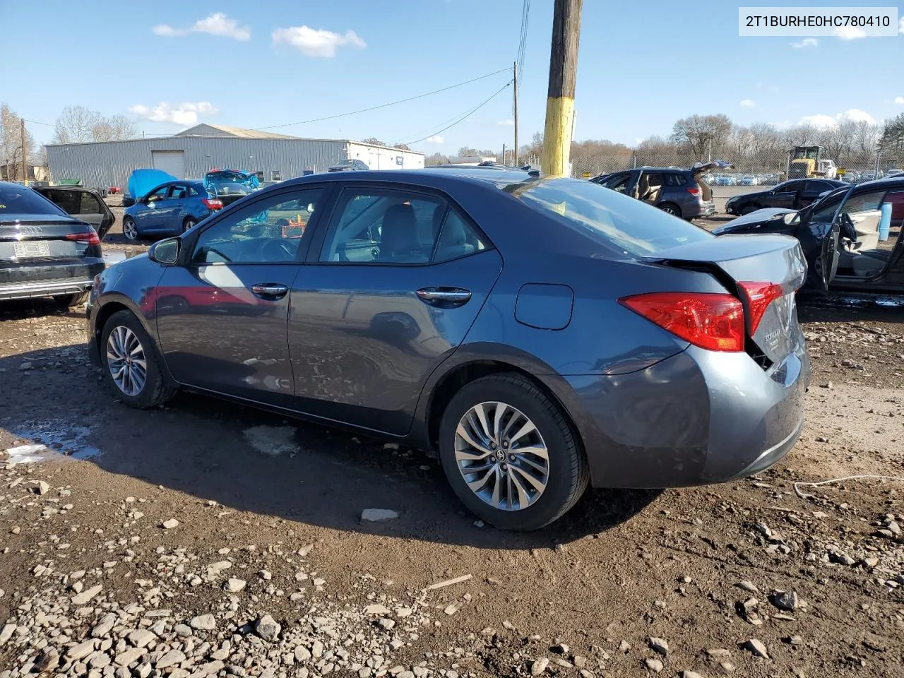
<path fill-rule="evenodd" d="M 550 176 L 569 174 L 581 5 L 582 0 L 555 0 L 552 10 L 550 85 L 546 93 L 542 160 L 543 173 Z"/>

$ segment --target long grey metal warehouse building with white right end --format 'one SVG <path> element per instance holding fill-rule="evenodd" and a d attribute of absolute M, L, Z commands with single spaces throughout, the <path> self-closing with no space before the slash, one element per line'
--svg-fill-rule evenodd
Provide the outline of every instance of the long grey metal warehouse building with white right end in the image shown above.
<path fill-rule="evenodd" d="M 51 180 L 80 179 L 83 186 L 125 186 L 132 170 L 155 167 L 179 179 L 202 178 L 216 167 L 258 172 L 264 181 L 323 172 L 340 160 L 359 159 L 371 169 L 417 169 L 424 154 L 348 139 L 304 139 L 224 125 L 196 125 L 173 137 L 51 144 Z"/>

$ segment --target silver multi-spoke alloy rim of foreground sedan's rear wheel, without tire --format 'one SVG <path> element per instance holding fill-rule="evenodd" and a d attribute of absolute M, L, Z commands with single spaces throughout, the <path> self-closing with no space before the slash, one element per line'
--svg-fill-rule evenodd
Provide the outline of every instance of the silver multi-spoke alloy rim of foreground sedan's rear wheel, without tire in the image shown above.
<path fill-rule="evenodd" d="M 550 479 L 550 457 L 531 419 L 504 402 L 481 402 L 456 428 L 458 470 L 471 492 L 502 511 L 536 502 Z"/>

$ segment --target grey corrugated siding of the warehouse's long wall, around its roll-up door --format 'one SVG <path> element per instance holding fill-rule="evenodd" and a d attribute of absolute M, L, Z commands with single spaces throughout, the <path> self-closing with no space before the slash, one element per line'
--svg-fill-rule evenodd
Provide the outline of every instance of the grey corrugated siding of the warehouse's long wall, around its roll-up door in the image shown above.
<path fill-rule="evenodd" d="M 202 178 L 213 167 L 231 167 L 261 170 L 265 180 L 273 170 L 283 179 L 301 176 L 306 170 L 323 172 L 348 153 L 344 141 L 233 137 L 161 137 L 46 148 L 52 181 L 81 179 L 84 186 L 122 186 L 124 190 L 132 170 L 153 166 L 151 151 L 183 150 L 187 178 Z"/>

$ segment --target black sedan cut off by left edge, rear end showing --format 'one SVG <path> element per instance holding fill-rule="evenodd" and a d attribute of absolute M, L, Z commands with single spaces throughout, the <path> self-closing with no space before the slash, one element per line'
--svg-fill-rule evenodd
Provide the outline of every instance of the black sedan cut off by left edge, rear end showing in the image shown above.
<path fill-rule="evenodd" d="M 85 300 L 104 259 L 98 231 L 80 216 L 28 186 L 0 182 L 0 301 L 53 297 L 60 306 L 78 306 Z"/>

